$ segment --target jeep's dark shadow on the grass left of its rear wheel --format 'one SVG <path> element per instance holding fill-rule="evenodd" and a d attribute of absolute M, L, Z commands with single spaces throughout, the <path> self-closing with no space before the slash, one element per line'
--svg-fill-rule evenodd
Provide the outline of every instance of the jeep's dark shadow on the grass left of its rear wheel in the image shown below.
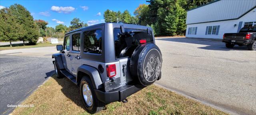
<path fill-rule="evenodd" d="M 79 107 L 82 107 L 84 110 L 86 110 L 82 103 L 82 99 L 80 98 L 80 89 L 76 84 L 70 81 L 67 77 L 58 79 L 56 75 L 53 75 L 52 78 L 55 79 L 59 85 L 62 86 L 61 91 L 66 97 L 76 103 L 76 105 L 78 105 Z"/>

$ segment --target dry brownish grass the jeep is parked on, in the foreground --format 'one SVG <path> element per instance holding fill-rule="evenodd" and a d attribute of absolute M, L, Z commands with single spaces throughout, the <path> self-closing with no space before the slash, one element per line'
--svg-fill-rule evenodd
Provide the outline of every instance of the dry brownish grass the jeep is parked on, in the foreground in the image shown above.
<path fill-rule="evenodd" d="M 88 115 L 80 99 L 79 88 L 66 77 L 54 75 L 39 87 L 12 115 Z M 114 102 L 97 115 L 227 115 L 210 106 L 150 85 L 128 97 L 128 103 Z"/>

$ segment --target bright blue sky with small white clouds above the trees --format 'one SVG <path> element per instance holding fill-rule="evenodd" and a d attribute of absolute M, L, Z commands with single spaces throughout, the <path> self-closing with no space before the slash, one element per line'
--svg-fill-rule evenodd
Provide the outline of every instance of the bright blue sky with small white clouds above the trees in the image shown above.
<path fill-rule="evenodd" d="M 15 3 L 24 6 L 34 19 L 47 21 L 50 27 L 58 24 L 70 26 L 73 18 L 80 18 L 89 25 L 102 23 L 103 13 L 107 9 L 121 12 L 128 10 L 133 16 L 140 4 L 148 4 L 146 0 L 1 0 L 0 7 L 9 7 Z"/>

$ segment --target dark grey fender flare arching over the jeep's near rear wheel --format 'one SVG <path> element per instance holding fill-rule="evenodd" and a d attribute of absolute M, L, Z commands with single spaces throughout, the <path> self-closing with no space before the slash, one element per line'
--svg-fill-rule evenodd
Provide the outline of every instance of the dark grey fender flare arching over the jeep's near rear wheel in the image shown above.
<path fill-rule="evenodd" d="M 91 78 L 92 80 L 92 85 L 94 89 L 100 89 L 103 87 L 103 83 L 102 80 L 100 78 L 100 73 L 98 72 L 98 70 L 92 66 L 89 65 L 81 65 L 80 67 L 78 67 L 77 72 L 83 72 L 86 73 L 88 75 L 88 77 Z M 78 75 L 78 73 L 76 75 Z M 82 78 L 82 75 L 78 75 L 76 77 L 76 82 L 80 83 L 80 79 Z"/>

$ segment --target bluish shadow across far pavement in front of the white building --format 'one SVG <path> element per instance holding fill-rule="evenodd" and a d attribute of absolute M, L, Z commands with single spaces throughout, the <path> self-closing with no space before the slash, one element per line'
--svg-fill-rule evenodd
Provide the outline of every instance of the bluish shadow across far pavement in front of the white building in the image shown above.
<path fill-rule="evenodd" d="M 226 48 L 225 43 L 221 39 L 208 39 L 208 38 L 159 38 L 156 40 L 170 41 L 170 42 L 181 42 L 190 44 L 206 45 L 199 47 L 204 50 L 221 50 L 221 51 L 232 51 L 232 50 L 247 50 L 247 46 L 235 45 L 234 48 Z"/>

